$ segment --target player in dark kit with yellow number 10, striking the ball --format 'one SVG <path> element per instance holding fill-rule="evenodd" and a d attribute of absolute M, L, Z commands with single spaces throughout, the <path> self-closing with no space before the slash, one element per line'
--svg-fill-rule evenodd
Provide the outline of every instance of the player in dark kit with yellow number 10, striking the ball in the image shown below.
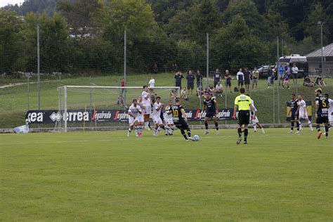
<path fill-rule="evenodd" d="M 188 127 L 188 118 L 185 115 L 185 109 L 181 105 L 181 98 L 176 98 L 176 104 L 171 105 L 170 110 L 172 112 L 174 124 L 178 129 L 181 130 L 181 134 L 185 138 L 185 141 L 193 140 L 191 137 L 191 130 L 190 127 Z M 188 135 L 186 136 L 185 130 L 188 132 Z"/>

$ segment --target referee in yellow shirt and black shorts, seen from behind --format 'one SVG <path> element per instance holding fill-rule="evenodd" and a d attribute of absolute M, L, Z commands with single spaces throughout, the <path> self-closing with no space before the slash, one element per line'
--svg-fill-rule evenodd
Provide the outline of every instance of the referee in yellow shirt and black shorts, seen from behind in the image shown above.
<path fill-rule="evenodd" d="M 251 98 L 244 93 L 245 89 L 240 88 L 240 96 L 235 98 L 235 107 L 233 108 L 233 119 L 236 118 L 236 111 L 238 109 L 237 144 L 242 142 L 242 125 L 244 125 L 244 144 L 247 144 L 247 134 L 249 133 L 247 126 L 249 125 L 250 110 L 253 111 Z"/>

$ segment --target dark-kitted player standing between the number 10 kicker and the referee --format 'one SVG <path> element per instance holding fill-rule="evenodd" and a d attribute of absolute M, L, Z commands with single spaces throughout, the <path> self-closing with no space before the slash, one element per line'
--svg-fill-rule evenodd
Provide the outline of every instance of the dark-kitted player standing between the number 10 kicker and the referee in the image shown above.
<path fill-rule="evenodd" d="M 204 135 L 209 133 L 208 131 L 209 119 L 213 119 L 216 128 L 216 135 L 218 135 L 219 134 L 218 122 L 216 119 L 216 113 L 218 112 L 218 108 L 215 97 L 211 97 L 209 93 L 206 93 L 204 95 L 204 105 L 202 107 L 202 110 L 206 110 L 206 117 L 204 117 L 204 128 L 206 129 L 206 131 L 204 131 Z"/>

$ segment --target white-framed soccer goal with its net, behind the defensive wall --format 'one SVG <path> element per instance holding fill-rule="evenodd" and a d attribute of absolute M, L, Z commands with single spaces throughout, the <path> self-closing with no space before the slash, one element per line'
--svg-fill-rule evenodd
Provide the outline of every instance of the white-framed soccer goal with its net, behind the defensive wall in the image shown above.
<path fill-rule="evenodd" d="M 133 99 L 141 96 L 140 86 L 61 86 L 58 87 L 58 112 L 51 118 L 55 131 L 123 129 Z M 162 86 L 149 89 L 163 103 L 180 96 L 180 88 Z"/>

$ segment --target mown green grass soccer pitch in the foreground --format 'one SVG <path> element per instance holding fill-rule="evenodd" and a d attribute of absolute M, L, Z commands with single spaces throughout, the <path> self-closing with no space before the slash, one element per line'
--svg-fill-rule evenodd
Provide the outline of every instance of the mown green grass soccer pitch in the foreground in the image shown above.
<path fill-rule="evenodd" d="M 192 132 L 0 134 L 0 221 L 332 221 L 332 137 Z"/>

